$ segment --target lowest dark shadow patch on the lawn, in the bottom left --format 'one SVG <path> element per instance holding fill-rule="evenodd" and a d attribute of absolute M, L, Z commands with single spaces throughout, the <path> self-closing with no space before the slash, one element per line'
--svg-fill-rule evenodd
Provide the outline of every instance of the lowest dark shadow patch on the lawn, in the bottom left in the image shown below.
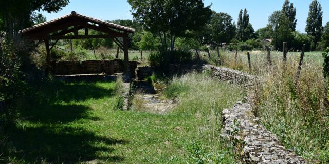
<path fill-rule="evenodd" d="M 124 157 L 111 156 L 111 145 L 126 144 L 117 140 L 96 136 L 82 128 L 63 126 L 42 126 L 37 128 L 12 129 L 10 132 L 13 156 L 27 163 L 42 160 L 53 163 L 75 163 L 104 159 L 122 161 Z M 105 152 L 99 157 L 97 153 Z"/>

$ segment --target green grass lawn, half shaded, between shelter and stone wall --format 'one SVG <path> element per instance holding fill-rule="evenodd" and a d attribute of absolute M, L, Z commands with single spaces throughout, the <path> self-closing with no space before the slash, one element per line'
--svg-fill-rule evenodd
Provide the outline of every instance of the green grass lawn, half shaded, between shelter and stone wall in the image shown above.
<path fill-rule="evenodd" d="M 199 78 L 197 92 L 204 93 L 189 96 L 195 95 L 193 88 L 184 87 L 189 83 L 177 78 L 175 84 L 180 81 L 187 90 L 175 92 L 181 100 L 166 115 L 114 110 L 115 83 L 44 85 L 35 102 L 27 105 L 31 108 L 24 107 L 22 119 L 7 131 L 9 149 L 2 159 L 11 163 L 236 163 L 232 147 L 220 137 L 220 113 L 242 97 L 239 88 L 204 75 L 191 77 Z M 206 100 L 208 91 L 221 94 Z"/>

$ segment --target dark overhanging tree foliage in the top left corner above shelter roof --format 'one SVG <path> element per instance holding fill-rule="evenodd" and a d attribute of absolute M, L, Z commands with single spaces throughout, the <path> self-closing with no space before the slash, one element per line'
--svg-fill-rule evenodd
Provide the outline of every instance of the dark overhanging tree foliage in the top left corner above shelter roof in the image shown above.
<path fill-rule="evenodd" d="M 18 31 L 33 24 L 34 11 L 58 12 L 69 0 L 1 0 L 0 18 L 5 22 L 6 36 L 17 38 Z"/>

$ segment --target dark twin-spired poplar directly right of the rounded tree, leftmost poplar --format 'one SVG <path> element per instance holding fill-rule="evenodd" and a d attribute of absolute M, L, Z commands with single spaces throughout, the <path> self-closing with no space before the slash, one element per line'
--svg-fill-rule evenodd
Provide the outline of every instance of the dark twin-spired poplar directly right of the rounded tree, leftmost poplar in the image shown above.
<path fill-rule="evenodd" d="M 242 12 L 242 9 L 239 12 L 239 18 L 237 19 L 236 24 L 236 38 L 238 40 L 246 41 L 252 37 L 254 30 L 252 25 L 249 23 L 249 14 L 247 9 Z"/>

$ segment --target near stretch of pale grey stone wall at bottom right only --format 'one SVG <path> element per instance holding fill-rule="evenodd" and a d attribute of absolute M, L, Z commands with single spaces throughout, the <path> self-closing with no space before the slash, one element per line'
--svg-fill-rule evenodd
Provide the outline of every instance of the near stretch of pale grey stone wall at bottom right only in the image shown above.
<path fill-rule="evenodd" d="M 237 103 L 231 109 L 223 110 L 223 132 L 229 137 L 233 120 L 240 122 L 243 137 L 236 139 L 244 141 L 243 157 L 247 163 L 307 163 L 305 159 L 284 148 L 278 138 L 257 123 L 249 104 Z"/>

